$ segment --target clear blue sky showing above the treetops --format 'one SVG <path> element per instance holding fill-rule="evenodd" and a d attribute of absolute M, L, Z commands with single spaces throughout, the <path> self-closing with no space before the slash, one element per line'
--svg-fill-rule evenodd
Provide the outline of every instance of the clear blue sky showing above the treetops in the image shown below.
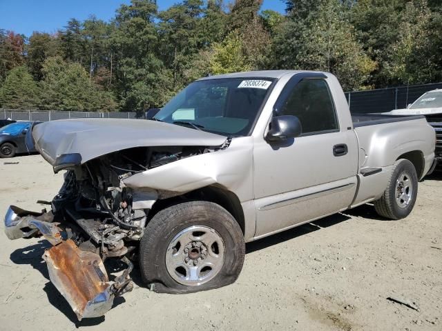
<path fill-rule="evenodd" d="M 115 10 L 130 0 L 0 0 L 0 29 L 12 30 L 27 37 L 33 31 L 54 33 L 66 26 L 69 19 L 83 21 L 91 14 L 108 21 Z M 178 0 L 157 0 L 160 10 Z M 262 10 L 284 12 L 282 0 L 264 0 Z"/>

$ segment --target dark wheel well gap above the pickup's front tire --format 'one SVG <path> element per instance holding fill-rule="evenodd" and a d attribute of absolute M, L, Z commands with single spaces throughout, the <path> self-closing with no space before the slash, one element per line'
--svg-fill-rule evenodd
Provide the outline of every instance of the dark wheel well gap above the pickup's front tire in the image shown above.
<path fill-rule="evenodd" d="M 168 208 L 171 205 L 182 203 L 184 201 L 195 200 L 217 203 L 222 208 L 230 212 L 233 218 L 240 225 L 242 234 L 245 233 L 244 212 L 241 207 L 240 199 L 238 199 L 235 193 L 213 185 L 206 186 L 205 188 L 199 188 L 198 190 L 188 192 L 178 197 L 158 200 L 154 203 L 151 213 L 149 214 L 149 218 L 153 217 L 160 210 Z"/>

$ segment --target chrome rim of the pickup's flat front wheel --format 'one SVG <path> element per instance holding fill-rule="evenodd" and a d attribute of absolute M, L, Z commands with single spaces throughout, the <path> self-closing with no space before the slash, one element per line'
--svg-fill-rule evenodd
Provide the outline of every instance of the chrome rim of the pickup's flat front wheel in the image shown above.
<path fill-rule="evenodd" d="M 225 246 L 213 228 L 194 225 L 178 233 L 166 250 L 166 269 L 180 284 L 202 285 L 224 264 Z"/>

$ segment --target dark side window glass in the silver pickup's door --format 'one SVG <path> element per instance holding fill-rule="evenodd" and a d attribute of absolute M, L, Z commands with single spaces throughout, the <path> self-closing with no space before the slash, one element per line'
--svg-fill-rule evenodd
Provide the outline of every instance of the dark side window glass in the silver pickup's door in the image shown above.
<path fill-rule="evenodd" d="M 298 117 L 302 134 L 338 130 L 332 96 L 322 79 L 300 81 L 289 94 L 280 114 Z"/>

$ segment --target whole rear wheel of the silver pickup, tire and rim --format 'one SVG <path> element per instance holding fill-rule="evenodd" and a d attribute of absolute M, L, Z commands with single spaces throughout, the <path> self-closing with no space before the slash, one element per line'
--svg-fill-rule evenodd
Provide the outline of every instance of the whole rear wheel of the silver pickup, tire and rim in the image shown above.
<path fill-rule="evenodd" d="M 383 196 L 374 201 L 376 212 L 387 219 L 407 217 L 416 203 L 417 185 L 413 163 L 405 159 L 396 161 Z"/>

